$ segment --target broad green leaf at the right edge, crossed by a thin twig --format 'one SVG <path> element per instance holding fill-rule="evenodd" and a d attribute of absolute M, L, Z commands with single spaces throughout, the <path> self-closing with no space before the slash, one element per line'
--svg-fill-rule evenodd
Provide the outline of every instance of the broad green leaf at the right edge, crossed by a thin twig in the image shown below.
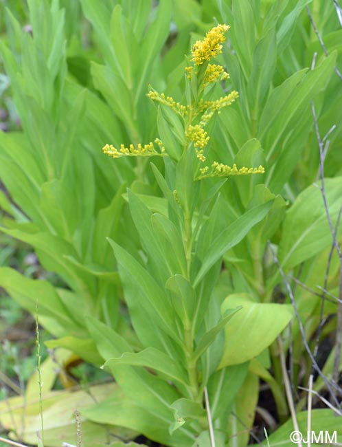
<path fill-rule="evenodd" d="M 342 177 L 325 179 L 326 200 L 335 227 L 341 208 Z M 332 244 L 326 210 L 321 195 L 321 182 L 308 186 L 286 212 L 278 258 L 290 270 Z"/>

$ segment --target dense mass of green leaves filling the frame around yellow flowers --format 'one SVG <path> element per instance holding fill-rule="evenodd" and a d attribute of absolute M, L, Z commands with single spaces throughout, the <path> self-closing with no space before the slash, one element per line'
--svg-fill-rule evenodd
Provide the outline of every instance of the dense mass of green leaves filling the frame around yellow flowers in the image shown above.
<path fill-rule="evenodd" d="M 56 374 L 47 364 L 43 398 L 54 396 L 53 415 L 58 405 L 80 409 L 84 445 L 109 440 L 108 424 L 125 440 L 141 433 L 175 447 L 207 446 L 212 437 L 217 446 L 246 446 L 262 379 L 280 425 L 269 442 L 290 446 L 280 356 L 290 351 L 296 393 L 308 384 L 311 362 L 274 253 L 290 285 L 297 278 L 306 286 L 293 287 L 294 301 L 313 349 L 322 317 L 329 323 L 321 339 L 336 328 L 337 300 L 321 315 L 312 289 L 337 296 L 341 265 L 335 252 L 326 274 L 332 235 L 317 187 L 312 101 L 322 138 L 337 125 L 325 164 L 337 226 L 342 83 L 334 69 L 342 65 L 342 28 L 332 1 L 155 3 L 27 0 L 26 9 L 8 2 L 0 57 L 10 89 L 0 99 L 12 98 L 21 129 L 0 133 L 0 177 L 11 197 L 0 191 L 0 229 L 30 244 L 60 284 L 3 267 L 0 286 L 33 315 L 38 300 L 39 322 L 55 337 L 46 344 L 61 362 L 73 355 L 105 364 L 115 378 L 91 388 L 95 405 L 84 391 L 68 401 L 50 391 Z M 25 14 L 32 30 L 19 24 Z M 216 57 L 230 78 L 206 84 L 209 61 L 197 65 L 192 45 L 217 23 L 231 27 Z M 229 107 L 203 106 L 231 91 L 239 98 Z M 209 143 L 192 138 L 196 126 Z M 101 151 L 155 138 L 165 152 L 151 158 L 113 160 Z M 206 175 L 215 162 L 265 172 Z M 332 349 L 321 364 L 328 378 L 333 360 Z M 25 405 L 35 422 L 27 426 L 37 430 L 32 384 Z M 314 388 L 324 389 L 320 377 Z M 303 433 L 305 400 L 295 397 Z M 60 446 L 46 417 L 45 445 Z M 312 430 L 334 428 L 341 440 L 332 410 L 312 411 L 311 421 Z M 34 433 L 23 430 L 23 441 L 34 442 Z"/>

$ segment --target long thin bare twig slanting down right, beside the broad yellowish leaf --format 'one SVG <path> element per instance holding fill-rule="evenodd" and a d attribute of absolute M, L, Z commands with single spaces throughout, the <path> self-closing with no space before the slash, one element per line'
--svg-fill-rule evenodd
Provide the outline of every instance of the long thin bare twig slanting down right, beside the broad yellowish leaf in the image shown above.
<path fill-rule="evenodd" d="M 271 253 L 273 254 L 273 259 L 275 261 L 275 265 L 277 265 L 277 268 L 280 271 L 280 275 L 282 276 L 282 279 L 286 285 L 286 290 L 288 291 L 288 295 L 290 296 L 290 301 L 291 301 L 291 303 L 293 305 L 293 309 L 295 311 L 295 316 L 297 318 L 298 325 L 299 325 L 299 331 L 301 333 L 301 338 L 303 339 L 303 344 L 306 349 L 306 352 L 308 353 L 308 356 L 310 357 L 313 367 L 315 368 L 317 373 L 321 376 L 324 384 L 326 385 L 326 388 L 328 389 L 329 393 L 332 395 L 334 403 L 336 404 L 337 407 L 339 407 L 339 401 L 337 400 L 336 395 L 334 395 L 332 389 L 335 389 L 337 391 L 337 393 L 341 393 L 341 389 L 339 389 L 339 386 L 337 386 L 336 384 L 329 382 L 328 378 L 326 378 L 326 375 L 324 375 L 323 372 L 321 371 L 321 368 L 319 368 L 315 358 L 312 356 L 312 352 L 310 351 L 310 347 L 308 345 L 308 342 L 306 341 L 306 335 L 305 335 L 303 323 L 301 323 L 301 318 L 299 316 L 298 307 L 297 307 L 297 304 L 295 303 L 295 297 L 293 296 L 290 283 L 288 283 L 288 280 L 284 274 L 284 270 L 282 269 L 282 266 L 280 265 L 280 262 L 277 259 L 277 255 L 275 254 L 270 241 L 269 241 L 269 248 L 271 250 Z"/>

